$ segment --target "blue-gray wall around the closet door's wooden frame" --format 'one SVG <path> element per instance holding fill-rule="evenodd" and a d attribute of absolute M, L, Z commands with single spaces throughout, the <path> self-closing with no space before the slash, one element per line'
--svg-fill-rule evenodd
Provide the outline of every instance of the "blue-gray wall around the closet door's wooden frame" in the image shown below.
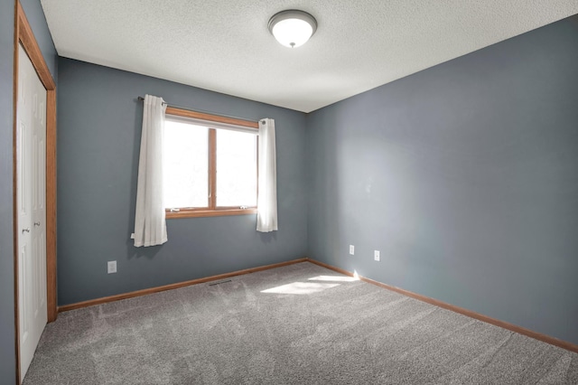
<path fill-rule="evenodd" d="M 57 55 L 38 0 L 23 10 L 56 80 Z M 0 2 L 0 379 L 15 382 L 13 241 L 14 1 Z"/>

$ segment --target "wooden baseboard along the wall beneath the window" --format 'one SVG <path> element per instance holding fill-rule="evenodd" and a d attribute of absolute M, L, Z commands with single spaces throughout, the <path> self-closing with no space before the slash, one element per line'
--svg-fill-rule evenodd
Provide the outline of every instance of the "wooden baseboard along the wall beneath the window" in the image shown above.
<path fill-rule="evenodd" d="M 68 312 L 70 310 L 80 309 L 82 307 L 107 304 L 108 302 L 119 301 L 121 299 L 134 298 L 135 296 L 146 296 L 148 294 L 159 293 L 162 291 L 172 290 L 172 289 L 181 288 L 181 287 L 185 287 L 185 286 L 203 284 L 206 282 L 218 281 L 220 279 L 226 279 L 226 278 L 230 278 L 230 277 L 243 276 L 245 274 L 256 273 L 257 271 L 269 270 L 271 268 L 282 268 L 284 266 L 294 265 L 296 263 L 306 262 L 308 260 L 309 260 L 308 258 L 293 259 L 293 260 L 289 260 L 286 262 L 279 262 L 279 263 L 274 263 L 272 265 L 261 266 L 258 268 L 246 268 L 243 270 L 233 271 L 231 273 L 219 274 L 217 276 L 191 279 L 190 281 L 178 282 L 176 284 L 170 284 L 170 285 L 164 285 L 164 286 L 150 287 L 150 288 L 146 288 L 143 290 L 136 290 L 136 291 L 129 292 L 129 293 L 117 294 L 116 296 L 104 296 L 101 298 L 90 299 L 88 301 L 78 302 L 76 304 L 59 306 L 58 312 L 63 313 L 63 312 Z"/>

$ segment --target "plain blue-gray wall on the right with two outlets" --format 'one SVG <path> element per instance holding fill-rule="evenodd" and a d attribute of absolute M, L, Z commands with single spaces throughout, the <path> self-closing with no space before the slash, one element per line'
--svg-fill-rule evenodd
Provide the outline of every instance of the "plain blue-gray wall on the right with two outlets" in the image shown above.
<path fill-rule="evenodd" d="M 309 115 L 309 256 L 578 343 L 576 42 L 574 16 Z"/>

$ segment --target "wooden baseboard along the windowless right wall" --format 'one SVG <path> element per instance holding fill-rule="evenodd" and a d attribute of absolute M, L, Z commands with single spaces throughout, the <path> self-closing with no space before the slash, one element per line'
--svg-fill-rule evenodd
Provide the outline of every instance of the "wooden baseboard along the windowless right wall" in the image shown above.
<path fill-rule="evenodd" d="M 353 277 L 353 273 L 351 273 L 350 271 L 344 270 L 342 268 L 336 268 L 334 266 L 328 265 L 326 263 L 320 262 L 320 261 L 312 259 L 312 258 L 307 258 L 307 260 L 309 262 L 315 264 L 315 265 L 321 266 L 322 268 L 329 268 L 330 270 L 336 271 L 340 274 Z M 536 333 L 533 330 L 526 329 L 526 328 L 518 326 L 516 324 L 510 324 L 510 323 L 505 322 L 505 321 L 500 321 L 499 319 L 492 318 L 492 317 L 489 317 L 487 315 L 480 315 L 479 313 L 472 312 L 471 310 L 464 309 L 463 307 L 447 304 L 443 301 L 439 301 L 437 299 L 430 298 L 429 296 L 422 296 L 422 295 L 413 293 L 411 291 L 408 291 L 408 290 L 405 290 L 405 289 L 402 289 L 402 288 L 399 288 L 396 286 L 390 286 L 390 285 L 387 285 L 387 284 L 384 284 L 384 283 L 381 283 L 378 281 L 374 281 L 373 279 L 369 279 L 366 277 L 360 277 L 360 276 L 358 276 L 358 277 L 360 280 L 367 282 L 369 284 L 383 287 L 387 290 L 395 291 L 396 293 L 399 293 L 399 294 L 404 295 L 404 296 L 410 296 L 410 297 L 415 298 L 419 301 L 426 302 L 426 303 L 431 304 L 431 305 L 436 305 L 436 306 L 442 307 L 443 309 L 451 310 L 454 313 L 466 315 L 466 316 L 469 316 L 470 318 L 474 318 L 474 319 L 477 319 L 479 321 L 482 321 L 482 322 L 485 322 L 488 324 L 493 324 L 493 325 L 499 326 L 503 329 L 507 329 L 507 330 L 514 332 L 514 333 L 526 335 L 527 337 L 534 338 L 535 340 L 542 341 L 543 343 L 549 343 L 551 345 L 557 346 L 559 348 L 563 348 L 563 349 L 570 351 L 570 352 L 578 353 L 578 345 L 576 345 L 576 344 L 568 343 L 566 341 L 559 340 L 555 337 L 551 337 L 551 336 L 546 335 L 546 334 Z"/>

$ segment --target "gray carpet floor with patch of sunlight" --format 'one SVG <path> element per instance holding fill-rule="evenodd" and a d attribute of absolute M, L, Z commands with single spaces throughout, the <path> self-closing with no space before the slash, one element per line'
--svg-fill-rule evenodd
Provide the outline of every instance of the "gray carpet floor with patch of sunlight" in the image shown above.
<path fill-rule="evenodd" d="M 309 262 L 62 313 L 33 384 L 578 384 L 578 354 Z"/>

